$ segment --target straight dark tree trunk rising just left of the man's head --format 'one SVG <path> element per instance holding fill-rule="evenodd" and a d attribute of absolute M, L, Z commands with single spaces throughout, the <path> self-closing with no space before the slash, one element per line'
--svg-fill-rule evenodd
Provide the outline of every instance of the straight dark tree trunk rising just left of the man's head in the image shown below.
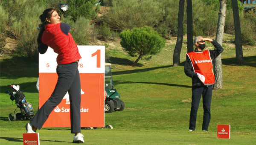
<path fill-rule="evenodd" d="M 187 2 L 187 52 L 194 51 L 193 44 L 193 15 L 192 15 L 192 0 L 186 0 Z"/>

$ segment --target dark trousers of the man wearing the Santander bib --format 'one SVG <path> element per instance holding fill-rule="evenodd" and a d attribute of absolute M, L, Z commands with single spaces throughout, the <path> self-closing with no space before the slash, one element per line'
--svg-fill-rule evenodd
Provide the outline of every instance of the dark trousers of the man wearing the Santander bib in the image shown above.
<path fill-rule="evenodd" d="M 202 130 L 208 131 L 211 120 L 211 101 L 212 101 L 212 85 L 210 86 L 193 86 L 192 87 L 192 103 L 190 110 L 189 129 L 195 130 L 197 111 L 201 96 L 203 96 L 204 119 Z"/>

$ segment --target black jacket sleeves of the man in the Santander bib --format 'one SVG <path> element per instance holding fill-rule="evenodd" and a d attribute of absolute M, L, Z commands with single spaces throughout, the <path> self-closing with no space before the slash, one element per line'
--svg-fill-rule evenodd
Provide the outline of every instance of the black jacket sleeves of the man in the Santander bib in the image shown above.
<path fill-rule="evenodd" d="M 210 52 L 210 57 L 212 58 L 212 61 L 218 57 L 218 55 L 221 54 L 221 52 L 223 52 L 223 48 L 220 44 L 218 44 L 217 41 L 213 40 L 211 42 L 215 49 L 214 50 L 209 50 Z M 184 72 L 187 76 L 189 76 L 190 78 L 192 78 L 192 86 L 201 86 L 204 85 L 200 79 L 198 78 L 197 73 L 194 72 L 191 61 L 188 57 L 188 55 L 186 55 L 186 61 L 185 61 L 185 65 L 184 65 Z"/>

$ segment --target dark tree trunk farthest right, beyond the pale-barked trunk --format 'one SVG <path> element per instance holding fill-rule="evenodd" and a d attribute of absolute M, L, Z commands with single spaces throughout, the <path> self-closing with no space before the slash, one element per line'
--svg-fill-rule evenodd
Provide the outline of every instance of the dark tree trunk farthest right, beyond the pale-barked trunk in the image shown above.
<path fill-rule="evenodd" d="M 235 25 L 235 43 L 236 43 L 236 63 L 242 64 L 244 63 L 243 58 L 243 49 L 242 49 L 242 36 L 241 36 L 241 27 L 240 27 L 240 18 L 239 18 L 239 10 L 237 0 L 232 0 L 233 7 L 233 17 L 234 17 L 234 25 Z"/>

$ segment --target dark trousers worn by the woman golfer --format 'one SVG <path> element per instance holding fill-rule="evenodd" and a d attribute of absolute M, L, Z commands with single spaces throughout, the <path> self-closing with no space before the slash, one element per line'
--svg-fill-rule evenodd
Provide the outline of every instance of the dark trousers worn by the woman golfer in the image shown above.
<path fill-rule="evenodd" d="M 70 96 L 71 133 L 81 132 L 80 104 L 81 83 L 77 69 L 78 63 L 61 64 L 57 67 L 58 81 L 55 89 L 44 105 L 38 110 L 30 124 L 41 129 L 52 110 L 61 103 L 68 92 Z"/>

